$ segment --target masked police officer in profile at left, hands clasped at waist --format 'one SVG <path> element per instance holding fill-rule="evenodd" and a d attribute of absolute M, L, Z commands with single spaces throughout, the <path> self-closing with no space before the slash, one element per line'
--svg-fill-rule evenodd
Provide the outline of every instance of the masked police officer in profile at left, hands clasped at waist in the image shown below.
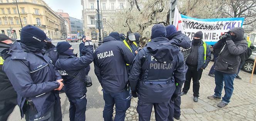
<path fill-rule="evenodd" d="M 44 31 L 27 25 L 20 32 L 20 42 L 14 42 L 4 54 L 3 71 L 18 94 L 21 117 L 25 114 L 26 121 L 52 121 L 56 117 L 54 105 L 60 97 L 54 90 L 61 90 L 63 83 L 52 60 L 43 55 L 46 38 Z"/>

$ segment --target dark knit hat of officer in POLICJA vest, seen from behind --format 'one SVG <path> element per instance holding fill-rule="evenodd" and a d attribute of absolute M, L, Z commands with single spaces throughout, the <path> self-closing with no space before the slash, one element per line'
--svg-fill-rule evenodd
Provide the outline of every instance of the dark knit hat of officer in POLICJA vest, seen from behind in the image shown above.
<path fill-rule="evenodd" d="M 156 24 L 152 27 L 151 30 L 152 39 L 157 37 L 166 37 L 166 30 L 163 24 Z"/>

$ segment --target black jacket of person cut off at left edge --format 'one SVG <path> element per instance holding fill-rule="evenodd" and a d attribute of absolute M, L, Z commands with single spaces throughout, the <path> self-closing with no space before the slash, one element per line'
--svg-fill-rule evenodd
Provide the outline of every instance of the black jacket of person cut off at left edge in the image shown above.
<path fill-rule="evenodd" d="M 8 51 L 11 46 L 0 42 L 0 52 Z M 0 56 L 0 101 L 11 97 L 17 98 L 17 93 L 14 91 L 12 83 L 3 71 L 3 58 Z"/>

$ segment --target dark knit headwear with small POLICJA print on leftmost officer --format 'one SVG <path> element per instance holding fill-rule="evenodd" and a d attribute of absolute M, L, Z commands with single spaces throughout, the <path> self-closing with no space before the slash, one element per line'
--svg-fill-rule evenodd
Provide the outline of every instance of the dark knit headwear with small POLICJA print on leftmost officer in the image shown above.
<path fill-rule="evenodd" d="M 33 25 L 26 25 L 20 32 L 20 42 L 29 47 L 42 49 L 46 38 L 44 31 Z"/>

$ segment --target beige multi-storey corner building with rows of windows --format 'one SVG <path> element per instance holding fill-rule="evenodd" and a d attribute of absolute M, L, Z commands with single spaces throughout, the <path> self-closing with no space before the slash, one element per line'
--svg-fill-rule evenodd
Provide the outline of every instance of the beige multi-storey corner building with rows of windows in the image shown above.
<path fill-rule="evenodd" d="M 23 27 L 34 25 L 52 39 L 61 38 L 60 18 L 43 0 L 17 2 Z M 0 0 L 0 33 L 20 38 L 21 23 L 15 0 Z"/>

